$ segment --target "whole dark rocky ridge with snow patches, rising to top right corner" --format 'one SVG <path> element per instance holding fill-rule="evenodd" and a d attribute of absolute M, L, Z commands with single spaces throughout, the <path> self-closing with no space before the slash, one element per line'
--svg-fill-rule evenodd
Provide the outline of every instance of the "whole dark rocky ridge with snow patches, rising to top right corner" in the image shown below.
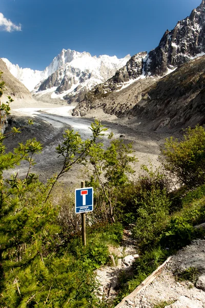
<path fill-rule="evenodd" d="M 179 21 L 173 30 L 167 30 L 159 45 L 151 50 L 139 52 L 131 57 L 126 66 L 103 85 L 92 89 L 92 94 L 107 94 L 128 87 L 133 82 L 163 76 L 179 65 L 205 54 L 205 0 L 194 9 L 190 16 Z"/>

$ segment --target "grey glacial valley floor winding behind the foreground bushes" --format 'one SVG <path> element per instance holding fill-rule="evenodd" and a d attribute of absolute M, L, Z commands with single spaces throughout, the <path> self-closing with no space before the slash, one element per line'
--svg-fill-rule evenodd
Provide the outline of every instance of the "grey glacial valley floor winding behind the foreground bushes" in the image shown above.
<path fill-rule="evenodd" d="M 140 174 L 141 164 L 148 165 L 151 163 L 154 168 L 160 165 L 158 161 L 159 146 L 165 141 L 166 137 L 169 137 L 167 133 L 142 130 L 140 125 L 134 123 L 133 120 L 131 124 L 129 121 L 117 119 L 114 115 L 105 114 L 103 111 L 89 114 L 90 118 L 77 118 L 72 117 L 73 107 L 68 105 L 59 106 L 44 102 L 36 102 L 34 105 L 33 101 L 28 103 L 18 101 L 13 102 L 11 107 L 11 114 L 17 124 L 18 119 L 25 118 L 33 119 L 35 124 L 32 127 L 23 129 L 22 133 L 17 134 L 15 138 L 8 138 L 6 146 L 11 150 L 18 142 L 25 142 L 27 139 L 34 137 L 42 142 L 44 148 L 42 154 L 35 157 L 36 165 L 33 169 L 33 172 L 37 172 L 42 181 L 58 172 L 60 168 L 60 161 L 57 158 L 55 147 L 62 140 L 61 136 L 64 130 L 69 128 L 79 131 L 81 138 L 85 140 L 91 136 L 89 126 L 95 118 L 101 120 L 101 123 L 108 128 L 106 135 L 112 131 L 115 138 L 122 138 L 126 143 L 133 143 L 135 156 L 138 158 L 133 178 L 137 178 Z M 16 125 L 15 121 L 14 126 Z M 106 136 L 103 137 L 103 142 L 108 144 Z M 27 165 L 25 162 L 20 168 L 18 167 L 19 175 L 23 176 L 26 170 Z M 74 186 L 80 183 L 81 180 L 86 180 L 86 175 L 84 169 L 79 165 L 74 166 L 69 171 L 69 174 L 62 179 L 63 182 L 74 184 Z"/>

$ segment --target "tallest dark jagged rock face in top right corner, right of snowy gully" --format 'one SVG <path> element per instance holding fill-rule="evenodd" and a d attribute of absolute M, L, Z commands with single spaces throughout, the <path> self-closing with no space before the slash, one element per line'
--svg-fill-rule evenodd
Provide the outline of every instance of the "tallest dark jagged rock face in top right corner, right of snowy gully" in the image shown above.
<path fill-rule="evenodd" d="M 205 52 L 205 1 L 176 27 L 167 30 L 159 45 L 149 52 L 145 64 L 148 75 L 162 76 L 169 69 L 188 62 Z"/>

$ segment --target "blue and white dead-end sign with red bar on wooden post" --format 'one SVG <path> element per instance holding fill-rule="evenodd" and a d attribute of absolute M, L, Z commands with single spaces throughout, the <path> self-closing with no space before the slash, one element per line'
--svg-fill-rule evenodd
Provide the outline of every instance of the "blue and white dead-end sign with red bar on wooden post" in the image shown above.
<path fill-rule="evenodd" d="M 93 211 L 93 187 L 75 189 L 75 213 Z"/>

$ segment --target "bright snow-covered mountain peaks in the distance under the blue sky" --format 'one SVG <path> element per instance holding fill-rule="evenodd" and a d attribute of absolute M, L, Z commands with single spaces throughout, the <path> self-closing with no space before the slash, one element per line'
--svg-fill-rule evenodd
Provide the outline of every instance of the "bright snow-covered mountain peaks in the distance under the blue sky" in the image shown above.
<path fill-rule="evenodd" d="M 64 95 L 72 92 L 76 87 L 90 90 L 96 84 L 105 82 L 129 59 L 130 55 L 118 59 L 116 56 L 99 55 L 97 57 L 86 51 L 63 49 L 44 71 L 19 68 L 9 60 L 3 60 L 18 80 L 25 84 L 30 91 L 37 92 L 37 98 L 44 99 L 45 96 L 48 98 L 49 93 L 49 97 L 53 98 L 58 98 L 58 94 L 60 94 L 62 99 Z M 53 91 L 54 95 L 52 95 Z"/>

